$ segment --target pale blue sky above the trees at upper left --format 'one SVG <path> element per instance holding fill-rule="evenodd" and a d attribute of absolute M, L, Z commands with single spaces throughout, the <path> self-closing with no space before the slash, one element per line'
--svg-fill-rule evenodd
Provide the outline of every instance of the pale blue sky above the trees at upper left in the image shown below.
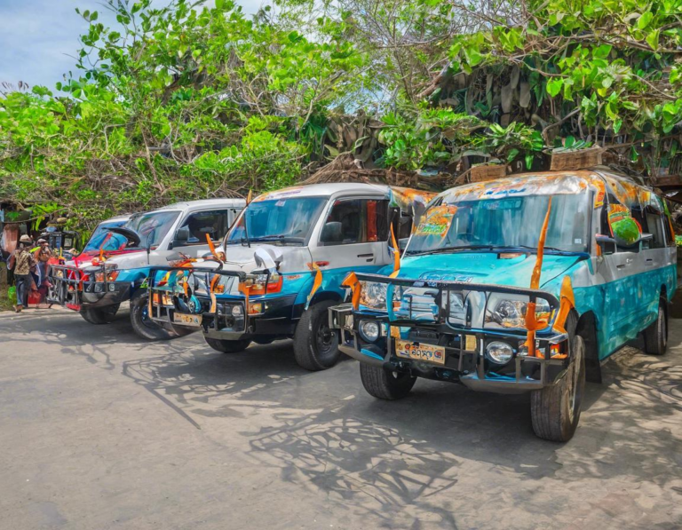
<path fill-rule="evenodd" d="M 165 2 L 155 0 L 155 4 Z M 263 0 L 237 2 L 246 13 L 263 4 Z M 116 23 L 101 0 L 0 0 L 0 83 L 16 87 L 21 81 L 54 90 L 64 74 L 75 72 L 78 36 L 88 28 L 76 7 L 99 12 L 104 24 Z"/>

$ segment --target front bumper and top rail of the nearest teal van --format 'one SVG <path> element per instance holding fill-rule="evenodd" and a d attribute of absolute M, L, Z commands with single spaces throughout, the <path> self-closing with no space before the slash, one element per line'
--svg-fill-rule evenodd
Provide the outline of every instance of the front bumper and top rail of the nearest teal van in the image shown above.
<path fill-rule="evenodd" d="M 364 275 L 357 274 L 362 280 Z M 387 279 L 383 276 L 366 275 L 371 281 L 384 281 L 397 285 L 418 285 L 424 282 Z M 491 292 L 523 294 L 524 296 L 542 297 L 547 300 L 554 311 L 559 303 L 555 297 L 542 291 L 529 292 L 529 289 L 513 289 L 489 285 L 461 284 L 456 282 L 432 282 L 429 289 L 439 291 L 440 300 L 449 300 L 448 291 L 464 291 L 464 299 L 475 292 L 482 304 L 487 303 Z M 482 295 L 480 293 L 483 293 Z M 485 297 L 485 301 L 483 298 Z M 393 307 L 392 296 L 389 295 L 387 305 Z M 485 309 L 485 305 L 483 306 Z M 446 308 L 448 309 L 448 308 Z M 411 315 L 412 308 L 409 308 Z M 448 309 L 449 311 L 449 309 Z M 374 320 L 379 328 L 379 336 L 366 340 L 360 332 L 361 321 Z M 352 304 L 337 305 L 329 309 L 329 327 L 339 330 L 339 349 L 353 359 L 370 364 L 377 368 L 391 371 L 408 372 L 440 381 L 461 383 L 475 391 L 522 393 L 541 389 L 556 383 L 567 370 L 569 359 L 568 336 L 548 330 L 535 337 L 535 356 L 528 356 L 522 346 L 527 335 L 525 330 L 473 328 L 453 324 L 448 316 L 438 311 L 432 321 L 410 320 L 400 318 L 394 311 L 369 312 L 356 310 Z M 428 351 L 438 351 L 432 360 L 409 358 L 405 350 L 396 347 L 408 343 L 410 347 L 424 345 Z M 505 363 L 496 363 L 486 352 L 491 342 L 502 342 L 512 347 L 513 355 Z M 406 357 L 407 356 L 407 357 Z"/>

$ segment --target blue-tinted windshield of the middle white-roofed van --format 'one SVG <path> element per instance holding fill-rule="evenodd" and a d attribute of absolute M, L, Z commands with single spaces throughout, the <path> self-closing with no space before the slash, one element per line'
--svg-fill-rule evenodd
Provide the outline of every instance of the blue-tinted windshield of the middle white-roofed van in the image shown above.
<path fill-rule="evenodd" d="M 248 232 L 250 241 L 304 244 L 326 202 L 326 197 L 251 202 L 226 242 L 246 241 Z M 244 222 L 248 223 L 246 232 Z"/>

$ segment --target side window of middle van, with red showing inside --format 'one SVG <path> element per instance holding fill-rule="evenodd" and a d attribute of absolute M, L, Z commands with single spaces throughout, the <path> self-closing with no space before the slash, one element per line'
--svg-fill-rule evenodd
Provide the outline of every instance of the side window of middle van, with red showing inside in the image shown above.
<path fill-rule="evenodd" d="M 388 239 L 388 201 L 339 199 L 322 227 L 320 242 L 351 245 Z"/>

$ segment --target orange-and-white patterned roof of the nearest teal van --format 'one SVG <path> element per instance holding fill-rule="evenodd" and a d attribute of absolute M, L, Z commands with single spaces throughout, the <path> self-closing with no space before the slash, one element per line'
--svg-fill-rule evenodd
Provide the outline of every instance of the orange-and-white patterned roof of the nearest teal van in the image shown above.
<path fill-rule="evenodd" d="M 439 196 L 451 203 L 524 195 L 580 194 L 588 189 L 595 192 L 596 204 L 603 202 L 606 193 L 615 195 L 619 202 L 626 205 L 635 201 L 648 202 L 653 195 L 651 188 L 638 184 L 632 178 L 595 168 L 519 173 L 450 188 Z"/>

